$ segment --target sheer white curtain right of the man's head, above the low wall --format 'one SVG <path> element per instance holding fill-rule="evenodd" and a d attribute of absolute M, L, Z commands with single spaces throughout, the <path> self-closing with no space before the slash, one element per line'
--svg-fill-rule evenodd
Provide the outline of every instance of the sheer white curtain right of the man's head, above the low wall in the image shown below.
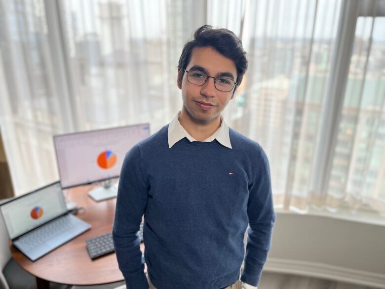
<path fill-rule="evenodd" d="M 384 5 L 208 1 L 249 55 L 228 115 L 265 148 L 275 206 L 385 213 Z"/>

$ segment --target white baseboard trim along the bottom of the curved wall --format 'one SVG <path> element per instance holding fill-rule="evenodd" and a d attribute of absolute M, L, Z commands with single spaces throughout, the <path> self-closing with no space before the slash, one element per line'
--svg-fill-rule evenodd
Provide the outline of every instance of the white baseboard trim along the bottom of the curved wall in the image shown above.
<path fill-rule="evenodd" d="M 385 275 L 299 260 L 268 258 L 264 271 L 325 278 L 385 289 Z"/>

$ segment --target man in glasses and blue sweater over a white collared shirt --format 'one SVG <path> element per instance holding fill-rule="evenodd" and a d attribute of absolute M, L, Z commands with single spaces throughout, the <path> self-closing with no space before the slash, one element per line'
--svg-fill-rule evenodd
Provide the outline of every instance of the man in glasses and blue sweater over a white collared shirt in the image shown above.
<path fill-rule="evenodd" d="M 268 159 L 221 117 L 246 69 L 227 29 L 202 26 L 183 48 L 182 111 L 133 147 L 121 169 L 113 235 L 128 289 L 258 285 L 275 220 Z M 143 214 L 149 280 L 136 236 Z"/>

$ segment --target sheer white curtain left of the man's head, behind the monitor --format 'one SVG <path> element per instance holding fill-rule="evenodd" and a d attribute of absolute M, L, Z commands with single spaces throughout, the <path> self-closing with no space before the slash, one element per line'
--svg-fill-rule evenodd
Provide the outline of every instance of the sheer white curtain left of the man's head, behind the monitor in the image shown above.
<path fill-rule="evenodd" d="M 0 124 L 16 194 L 58 179 L 54 134 L 167 124 L 204 11 L 192 0 L 0 0 Z"/>

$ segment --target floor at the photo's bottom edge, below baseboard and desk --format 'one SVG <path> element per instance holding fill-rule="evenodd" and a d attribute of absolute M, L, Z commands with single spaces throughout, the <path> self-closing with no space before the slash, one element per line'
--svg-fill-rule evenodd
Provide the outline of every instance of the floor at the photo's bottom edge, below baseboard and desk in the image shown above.
<path fill-rule="evenodd" d="M 74 286 L 73 289 L 114 289 L 123 282 L 100 286 Z M 325 279 L 277 274 L 262 274 L 258 289 L 374 289 L 372 287 L 335 282 Z"/>

